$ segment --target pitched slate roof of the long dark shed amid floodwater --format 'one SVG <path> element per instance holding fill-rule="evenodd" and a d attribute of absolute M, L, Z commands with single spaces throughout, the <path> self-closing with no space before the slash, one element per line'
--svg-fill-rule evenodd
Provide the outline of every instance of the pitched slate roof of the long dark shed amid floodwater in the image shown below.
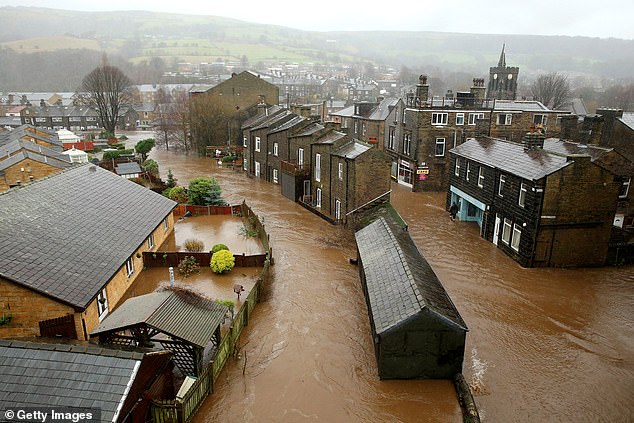
<path fill-rule="evenodd" d="M 467 331 L 458 310 L 407 231 L 384 218 L 355 234 L 376 333 L 391 330 L 423 310 Z"/>

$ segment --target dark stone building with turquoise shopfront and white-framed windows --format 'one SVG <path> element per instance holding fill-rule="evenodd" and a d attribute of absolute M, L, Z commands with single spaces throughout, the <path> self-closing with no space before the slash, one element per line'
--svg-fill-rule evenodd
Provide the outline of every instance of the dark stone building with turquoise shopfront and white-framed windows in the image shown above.
<path fill-rule="evenodd" d="M 623 180 L 582 149 L 544 147 L 541 133 L 455 147 L 446 207 L 524 267 L 602 266 Z"/>

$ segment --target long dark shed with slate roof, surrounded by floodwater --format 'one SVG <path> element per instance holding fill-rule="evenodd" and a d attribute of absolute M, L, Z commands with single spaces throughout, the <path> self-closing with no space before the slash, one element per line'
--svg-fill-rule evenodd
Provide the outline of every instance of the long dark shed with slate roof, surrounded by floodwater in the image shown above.
<path fill-rule="evenodd" d="M 355 234 L 381 379 L 453 379 L 465 322 L 407 230 L 379 218 Z"/>

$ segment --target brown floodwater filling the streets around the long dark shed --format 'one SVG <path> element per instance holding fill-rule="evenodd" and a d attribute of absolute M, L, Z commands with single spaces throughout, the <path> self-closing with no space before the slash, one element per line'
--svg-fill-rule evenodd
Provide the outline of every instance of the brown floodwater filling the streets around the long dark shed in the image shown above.
<path fill-rule="evenodd" d="M 163 177 L 214 176 L 263 219 L 273 278 L 195 422 L 461 422 L 449 381 L 379 381 L 353 236 L 210 158 L 156 150 Z M 469 326 L 464 374 L 488 422 L 634 421 L 634 267 L 523 269 L 452 222 L 441 193 L 394 185 Z"/>

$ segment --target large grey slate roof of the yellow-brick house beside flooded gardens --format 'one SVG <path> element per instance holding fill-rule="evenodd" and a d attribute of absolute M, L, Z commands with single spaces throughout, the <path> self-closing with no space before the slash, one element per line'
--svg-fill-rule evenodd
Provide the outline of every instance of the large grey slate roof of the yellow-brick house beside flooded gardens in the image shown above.
<path fill-rule="evenodd" d="M 92 164 L 0 193 L 0 276 L 84 309 L 176 202 Z"/>

